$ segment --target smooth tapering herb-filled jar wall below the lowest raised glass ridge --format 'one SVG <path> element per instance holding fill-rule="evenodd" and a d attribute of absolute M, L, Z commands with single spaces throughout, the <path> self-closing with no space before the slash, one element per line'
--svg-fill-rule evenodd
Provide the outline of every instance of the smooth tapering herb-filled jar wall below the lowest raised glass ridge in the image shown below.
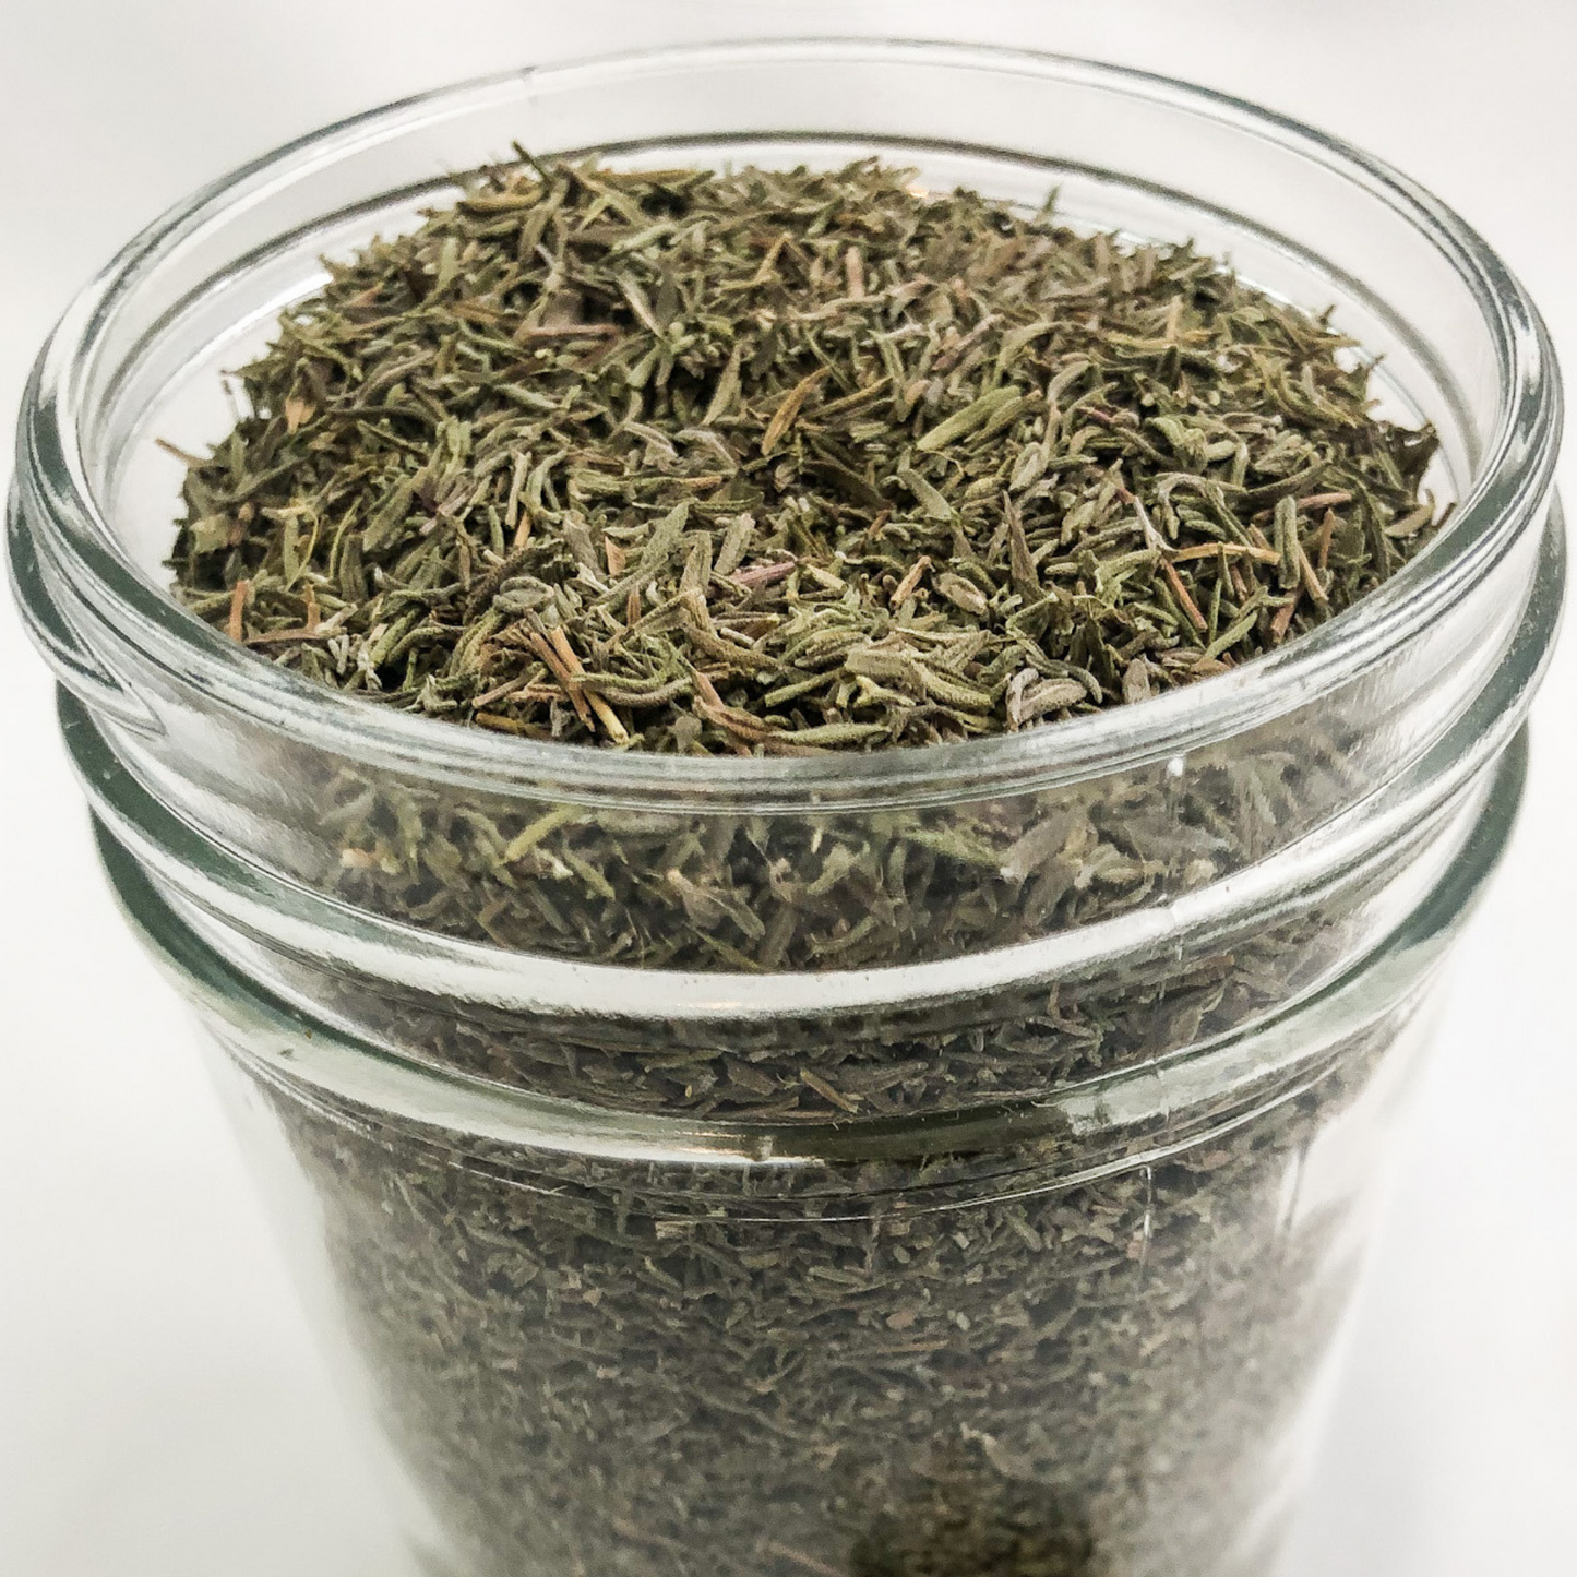
<path fill-rule="evenodd" d="M 1134 1172 L 804 1222 L 555 1191 L 267 1096 L 467 1572 L 1247 1577 L 1355 1276 L 1378 1053 Z"/>

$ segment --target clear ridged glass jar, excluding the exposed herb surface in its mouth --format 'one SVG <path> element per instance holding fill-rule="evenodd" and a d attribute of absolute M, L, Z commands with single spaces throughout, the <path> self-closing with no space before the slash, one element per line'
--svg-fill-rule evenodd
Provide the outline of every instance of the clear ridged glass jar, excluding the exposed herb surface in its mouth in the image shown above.
<path fill-rule="evenodd" d="M 312 688 L 161 590 L 181 467 L 155 438 L 222 435 L 221 369 L 320 254 L 513 140 L 882 153 L 1192 238 L 1383 356 L 1383 402 L 1440 432 L 1451 524 L 1271 658 L 967 744 L 618 755 Z M 306 139 L 134 241 L 39 361 L 13 579 L 117 889 L 274 1158 L 434 1558 L 1266 1571 L 1383 1120 L 1514 812 L 1558 435 L 1534 309 L 1426 194 L 1047 57 L 511 74 Z"/>

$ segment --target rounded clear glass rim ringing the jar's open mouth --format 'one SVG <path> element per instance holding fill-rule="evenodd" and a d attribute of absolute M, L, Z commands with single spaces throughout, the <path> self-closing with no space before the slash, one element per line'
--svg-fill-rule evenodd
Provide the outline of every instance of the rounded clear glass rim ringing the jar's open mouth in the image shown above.
<path fill-rule="evenodd" d="M 306 172 L 390 140 L 401 128 L 460 117 L 479 99 L 520 96 L 565 77 L 591 76 L 607 91 L 617 91 L 620 79 L 632 76 L 788 58 L 921 60 L 943 69 L 1076 80 L 1112 95 L 1165 103 L 1227 134 L 1276 144 L 1388 207 L 1467 285 L 1495 360 L 1493 426 L 1449 528 L 1353 609 L 1228 675 L 1025 733 L 826 757 L 620 754 L 481 729 L 435 727 L 432 719 L 380 710 L 257 661 L 181 609 L 120 544 L 95 495 L 82 442 L 91 423 L 90 372 L 104 355 L 117 311 L 205 227 L 244 211 Z M 833 134 L 836 128 L 828 128 Z M 1381 667 L 1457 606 L 1545 508 L 1560 426 L 1553 352 L 1536 308 L 1474 230 L 1383 161 L 1240 99 L 1126 68 L 978 46 L 809 39 L 527 68 L 341 121 L 210 185 L 137 237 L 68 308 L 25 397 L 17 489 L 25 528 L 38 535 L 68 579 L 79 617 L 103 621 L 132 648 L 200 688 L 208 700 L 290 736 L 322 741 L 337 754 L 451 782 L 552 782 L 566 800 L 659 798 L 675 811 L 703 809 L 719 800 L 749 800 L 759 809 L 913 804 L 1053 785 L 1178 757 Z"/>

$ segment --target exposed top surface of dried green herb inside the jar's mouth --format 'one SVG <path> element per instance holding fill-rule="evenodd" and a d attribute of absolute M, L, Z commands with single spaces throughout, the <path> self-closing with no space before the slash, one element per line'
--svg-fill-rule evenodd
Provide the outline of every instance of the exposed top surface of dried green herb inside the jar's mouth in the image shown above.
<path fill-rule="evenodd" d="M 192 459 L 183 601 L 385 705 L 801 752 L 1132 702 L 1430 536 L 1427 431 L 1191 248 L 836 172 L 525 164 L 330 263 Z"/>

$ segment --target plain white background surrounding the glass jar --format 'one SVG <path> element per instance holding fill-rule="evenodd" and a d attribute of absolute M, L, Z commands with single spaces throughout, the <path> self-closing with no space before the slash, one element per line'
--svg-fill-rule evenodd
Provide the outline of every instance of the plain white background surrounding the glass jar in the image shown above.
<path fill-rule="evenodd" d="M 1577 380 L 1572 0 L 0 0 L 0 423 L 68 295 L 240 161 L 535 58 L 771 32 L 1083 52 L 1310 120 L 1478 226 Z M 1288 1577 L 1572 1572 L 1574 706 L 1566 642 Z M 110 910 L 8 606 L 0 1044 L 0 1572 L 405 1577 L 183 1014 Z"/>

